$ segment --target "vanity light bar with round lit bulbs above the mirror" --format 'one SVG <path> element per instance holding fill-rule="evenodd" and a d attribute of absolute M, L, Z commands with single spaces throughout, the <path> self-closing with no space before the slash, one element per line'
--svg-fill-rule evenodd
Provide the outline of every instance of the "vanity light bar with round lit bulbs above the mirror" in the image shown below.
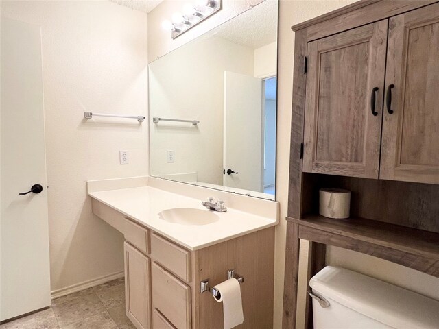
<path fill-rule="evenodd" d="M 186 4 L 182 10 L 183 14 L 174 13 L 172 21 L 163 21 L 162 27 L 171 31 L 171 38 L 175 39 L 220 9 L 221 0 L 198 0 L 194 5 Z"/>

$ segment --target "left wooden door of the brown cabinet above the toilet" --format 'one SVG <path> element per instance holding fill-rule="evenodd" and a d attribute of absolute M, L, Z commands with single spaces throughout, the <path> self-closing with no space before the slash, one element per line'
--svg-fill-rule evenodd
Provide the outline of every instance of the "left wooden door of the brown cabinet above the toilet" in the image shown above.
<path fill-rule="evenodd" d="M 309 42 L 303 171 L 378 178 L 387 30 Z"/>

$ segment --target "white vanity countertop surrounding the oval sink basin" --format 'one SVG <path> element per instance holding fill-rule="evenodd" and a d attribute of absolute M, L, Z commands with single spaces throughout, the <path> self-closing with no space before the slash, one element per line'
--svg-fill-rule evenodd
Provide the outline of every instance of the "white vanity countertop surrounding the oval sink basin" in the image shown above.
<path fill-rule="evenodd" d="M 166 184 L 169 185 L 169 183 Z M 191 188 L 193 187 L 191 186 Z M 205 194 L 209 195 L 209 191 L 206 191 Z M 119 188 L 108 191 L 91 191 L 89 188 L 88 195 L 137 221 L 141 226 L 150 228 L 190 250 L 201 249 L 237 236 L 275 226 L 278 223 L 277 212 L 273 216 L 262 217 L 230 208 L 227 199 L 226 207 L 228 210 L 215 212 L 219 216 L 218 221 L 205 225 L 169 223 L 159 217 L 159 212 L 170 208 L 197 208 L 206 212 L 210 210 L 201 205 L 202 199 L 195 199 L 152 186 Z M 252 202 L 258 207 L 258 200 L 252 200 Z M 266 200 L 259 202 L 259 206 L 265 205 L 266 208 L 266 202 Z M 277 202 L 274 203 L 274 209 L 277 209 Z M 237 204 L 237 201 L 235 200 L 231 204 Z M 261 211 L 261 213 L 263 212 L 266 213 L 266 211 Z"/>

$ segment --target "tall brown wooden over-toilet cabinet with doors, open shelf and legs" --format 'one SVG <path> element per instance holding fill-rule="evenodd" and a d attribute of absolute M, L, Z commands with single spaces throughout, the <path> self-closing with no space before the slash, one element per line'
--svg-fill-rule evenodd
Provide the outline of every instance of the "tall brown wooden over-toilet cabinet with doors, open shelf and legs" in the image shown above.
<path fill-rule="evenodd" d="M 439 278 L 439 0 L 361 0 L 292 29 L 284 329 L 306 295 L 300 239 L 308 280 L 326 245 Z M 351 191 L 350 218 L 318 215 L 324 187 Z"/>

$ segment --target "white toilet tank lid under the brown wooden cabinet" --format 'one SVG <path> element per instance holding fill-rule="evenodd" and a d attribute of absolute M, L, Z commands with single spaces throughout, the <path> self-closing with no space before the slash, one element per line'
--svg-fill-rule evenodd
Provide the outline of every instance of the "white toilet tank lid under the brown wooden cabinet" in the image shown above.
<path fill-rule="evenodd" d="M 439 301 L 361 273 L 327 266 L 309 286 L 322 297 L 394 328 L 439 328 Z"/>

